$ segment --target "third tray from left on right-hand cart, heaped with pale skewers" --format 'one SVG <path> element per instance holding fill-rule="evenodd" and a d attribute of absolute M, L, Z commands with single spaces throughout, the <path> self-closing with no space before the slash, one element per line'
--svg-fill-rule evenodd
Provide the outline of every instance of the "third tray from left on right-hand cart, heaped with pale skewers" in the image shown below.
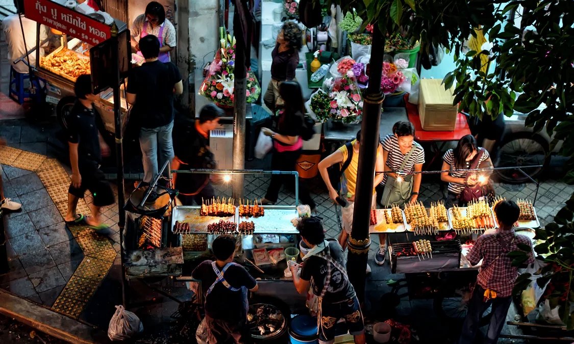
<path fill-rule="evenodd" d="M 452 229 L 457 232 L 473 233 L 496 228 L 494 213 L 486 201 L 473 201 L 467 207 L 448 209 Z"/>

